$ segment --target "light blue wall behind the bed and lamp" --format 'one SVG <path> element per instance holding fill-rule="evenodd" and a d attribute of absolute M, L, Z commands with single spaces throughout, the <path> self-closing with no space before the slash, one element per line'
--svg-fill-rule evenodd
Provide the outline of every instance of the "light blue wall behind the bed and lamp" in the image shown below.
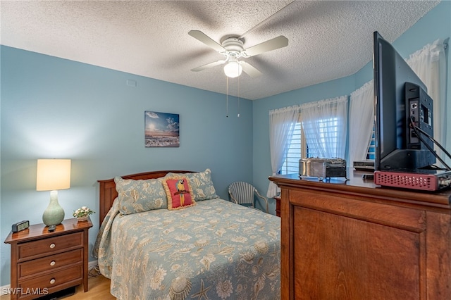
<path fill-rule="evenodd" d="M 49 192 L 36 191 L 37 158 L 71 158 L 66 218 L 99 211 L 97 180 L 149 170 L 211 168 L 228 199 L 235 180 L 252 182 L 252 101 L 1 46 L 1 285 L 10 274 L 11 224 L 42 223 Z M 127 85 L 136 82 L 136 87 Z M 179 148 L 144 147 L 144 111 L 180 114 Z M 89 230 L 92 248 L 98 214 Z"/>

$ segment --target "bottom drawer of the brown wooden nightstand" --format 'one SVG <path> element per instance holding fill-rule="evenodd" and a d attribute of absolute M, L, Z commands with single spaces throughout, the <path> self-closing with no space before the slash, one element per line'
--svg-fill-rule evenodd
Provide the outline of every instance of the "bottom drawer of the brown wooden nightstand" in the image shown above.
<path fill-rule="evenodd" d="M 49 294 L 56 290 L 66 289 L 75 285 L 80 285 L 83 279 L 83 265 L 74 265 L 70 268 L 58 270 L 54 273 L 47 273 L 27 280 L 19 280 L 18 287 L 22 291 L 37 289 L 48 291 Z M 19 299 L 28 298 L 30 294 L 22 294 Z"/>

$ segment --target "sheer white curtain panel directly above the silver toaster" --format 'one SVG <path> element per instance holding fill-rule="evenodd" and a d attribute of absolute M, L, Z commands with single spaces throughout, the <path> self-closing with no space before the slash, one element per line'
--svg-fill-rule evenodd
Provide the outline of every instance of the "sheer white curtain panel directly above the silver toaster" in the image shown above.
<path fill-rule="evenodd" d="M 309 156 L 345 158 L 347 96 L 303 104 L 301 113 Z"/>

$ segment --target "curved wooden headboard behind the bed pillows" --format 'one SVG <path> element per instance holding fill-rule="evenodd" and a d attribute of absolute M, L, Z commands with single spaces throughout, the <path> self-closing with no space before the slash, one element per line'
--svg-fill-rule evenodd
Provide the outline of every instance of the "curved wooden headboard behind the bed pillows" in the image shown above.
<path fill-rule="evenodd" d="M 146 173 L 138 173 L 121 176 L 123 179 L 134 179 L 134 180 L 144 180 L 144 179 L 152 179 L 166 176 L 168 173 L 192 173 L 192 171 L 183 171 L 183 170 L 168 170 L 168 171 L 152 171 Z M 113 205 L 114 199 L 118 196 L 118 192 L 116 192 L 116 184 L 114 183 L 114 178 L 109 180 L 98 180 L 100 183 L 100 192 L 99 192 L 99 225 L 104 221 L 106 214 L 109 209 Z"/>

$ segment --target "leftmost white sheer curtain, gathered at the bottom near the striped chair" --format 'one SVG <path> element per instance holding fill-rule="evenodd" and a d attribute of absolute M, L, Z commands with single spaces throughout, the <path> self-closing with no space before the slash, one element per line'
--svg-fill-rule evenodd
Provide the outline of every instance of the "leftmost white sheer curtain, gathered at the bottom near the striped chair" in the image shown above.
<path fill-rule="evenodd" d="M 290 106 L 269 111 L 269 151 L 271 154 L 271 170 L 276 175 L 283 165 L 288 151 L 295 123 L 299 118 L 299 106 Z M 273 198 L 280 192 L 278 186 L 270 181 L 266 196 Z"/>

